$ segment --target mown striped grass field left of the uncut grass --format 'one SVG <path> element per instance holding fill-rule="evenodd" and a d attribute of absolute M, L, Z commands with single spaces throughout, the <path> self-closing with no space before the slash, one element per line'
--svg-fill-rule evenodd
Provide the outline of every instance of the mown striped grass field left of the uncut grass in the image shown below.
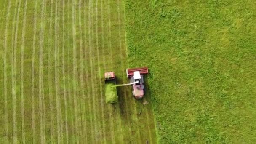
<path fill-rule="evenodd" d="M 127 83 L 121 0 L 0 0 L 0 143 L 156 143 L 151 100 Z M 149 104 L 142 104 L 148 101 Z"/>

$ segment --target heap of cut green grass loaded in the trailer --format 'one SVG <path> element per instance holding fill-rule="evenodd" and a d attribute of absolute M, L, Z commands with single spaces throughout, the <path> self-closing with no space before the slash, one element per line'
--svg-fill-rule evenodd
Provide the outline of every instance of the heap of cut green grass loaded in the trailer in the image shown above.
<path fill-rule="evenodd" d="M 112 83 L 107 83 L 105 85 L 105 101 L 107 104 L 109 103 L 116 103 L 118 100 L 118 96 L 117 96 L 117 88 L 114 84 Z"/>

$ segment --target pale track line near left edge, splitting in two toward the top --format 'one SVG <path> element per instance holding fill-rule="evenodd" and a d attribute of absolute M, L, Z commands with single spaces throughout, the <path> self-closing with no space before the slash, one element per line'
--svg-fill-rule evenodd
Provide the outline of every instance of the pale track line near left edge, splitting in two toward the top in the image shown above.
<path fill-rule="evenodd" d="M 16 3 L 17 4 L 17 3 Z M 13 32 L 15 25 L 16 17 L 16 28 L 15 28 L 15 37 L 14 37 L 14 47 L 13 47 L 13 60 L 12 60 L 12 97 L 13 97 L 13 143 L 17 143 L 17 106 L 16 106 L 16 55 L 17 55 L 17 39 L 18 39 L 18 29 L 19 29 L 19 11 L 21 6 L 21 0 L 19 0 L 19 6 L 17 10 L 17 15 L 13 17 Z M 17 7 L 17 5 L 16 5 Z"/>

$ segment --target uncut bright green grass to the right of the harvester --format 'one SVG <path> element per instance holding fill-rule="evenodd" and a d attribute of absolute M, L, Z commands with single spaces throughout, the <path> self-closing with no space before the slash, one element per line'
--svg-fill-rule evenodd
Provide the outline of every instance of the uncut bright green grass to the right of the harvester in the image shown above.
<path fill-rule="evenodd" d="M 256 141 L 255 8 L 125 1 L 129 66 L 149 67 L 159 143 Z"/>

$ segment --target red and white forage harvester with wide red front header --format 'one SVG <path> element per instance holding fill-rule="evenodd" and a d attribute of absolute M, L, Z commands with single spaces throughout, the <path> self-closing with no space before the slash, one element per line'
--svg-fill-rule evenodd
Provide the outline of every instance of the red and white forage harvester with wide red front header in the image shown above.
<path fill-rule="evenodd" d="M 148 68 L 147 67 L 138 67 L 138 68 L 129 68 L 126 69 L 127 77 L 130 78 L 130 83 L 134 83 L 132 85 L 133 87 L 133 96 L 136 99 L 141 99 L 144 96 L 144 79 L 143 75 L 148 74 Z"/>

